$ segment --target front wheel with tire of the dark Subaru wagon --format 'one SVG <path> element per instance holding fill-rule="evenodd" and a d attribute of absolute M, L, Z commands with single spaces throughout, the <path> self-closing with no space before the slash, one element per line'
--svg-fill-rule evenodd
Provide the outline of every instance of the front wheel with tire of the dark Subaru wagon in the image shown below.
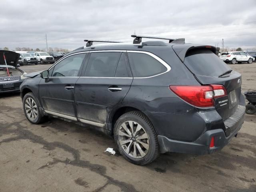
<path fill-rule="evenodd" d="M 42 113 L 40 110 L 40 104 L 38 102 L 38 99 L 36 96 L 32 93 L 29 92 L 27 93 L 23 100 L 22 100 L 22 106 L 23 106 L 23 111 L 30 123 L 32 124 L 40 124 L 46 120 L 46 116 Z M 33 107 L 33 111 L 31 112 L 31 108 Z M 37 115 L 36 115 L 37 112 Z"/>

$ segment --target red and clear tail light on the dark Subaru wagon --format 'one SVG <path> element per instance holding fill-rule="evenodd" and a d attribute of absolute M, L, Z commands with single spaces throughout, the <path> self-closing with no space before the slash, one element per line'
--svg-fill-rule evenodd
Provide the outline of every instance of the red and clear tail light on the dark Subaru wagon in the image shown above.
<path fill-rule="evenodd" d="M 206 85 L 206 86 L 176 86 L 170 85 L 176 95 L 197 107 L 214 106 L 214 98 L 226 95 L 226 89 L 222 85 Z"/>

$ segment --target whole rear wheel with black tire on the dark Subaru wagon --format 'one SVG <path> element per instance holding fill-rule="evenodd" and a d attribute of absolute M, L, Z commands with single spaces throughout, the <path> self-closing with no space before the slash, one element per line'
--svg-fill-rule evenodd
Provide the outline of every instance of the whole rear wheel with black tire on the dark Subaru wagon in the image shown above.
<path fill-rule="evenodd" d="M 133 164 L 150 164 L 159 155 L 156 130 L 140 111 L 131 111 L 118 118 L 114 126 L 114 140 L 120 154 Z"/>

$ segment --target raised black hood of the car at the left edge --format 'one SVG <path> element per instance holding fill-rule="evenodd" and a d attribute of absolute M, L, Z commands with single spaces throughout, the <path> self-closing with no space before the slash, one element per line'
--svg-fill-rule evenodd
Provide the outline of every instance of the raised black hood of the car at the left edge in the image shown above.
<path fill-rule="evenodd" d="M 0 50 L 0 65 L 5 65 L 4 55 L 7 65 L 14 66 L 16 68 L 20 54 L 13 51 Z"/>

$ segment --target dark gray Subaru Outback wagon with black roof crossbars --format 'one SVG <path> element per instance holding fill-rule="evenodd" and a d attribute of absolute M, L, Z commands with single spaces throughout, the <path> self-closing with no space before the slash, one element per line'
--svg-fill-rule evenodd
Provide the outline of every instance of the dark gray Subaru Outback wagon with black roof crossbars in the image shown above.
<path fill-rule="evenodd" d="M 241 74 L 213 46 L 133 37 L 131 44 L 85 40 L 48 70 L 27 74 L 20 86 L 26 118 L 94 125 L 140 165 L 159 153 L 211 154 L 228 144 L 244 122 Z"/>

